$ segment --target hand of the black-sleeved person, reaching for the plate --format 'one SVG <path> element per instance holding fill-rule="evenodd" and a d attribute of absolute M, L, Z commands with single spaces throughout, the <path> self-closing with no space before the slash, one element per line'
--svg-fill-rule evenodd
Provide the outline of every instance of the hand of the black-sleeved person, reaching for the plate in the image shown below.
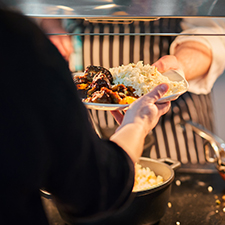
<path fill-rule="evenodd" d="M 124 117 L 118 111 L 111 112 L 115 119 L 122 123 L 110 140 L 122 147 L 133 162 L 137 162 L 141 156 L 146 135 L 170 108 L 170 102 L 156 103 L 168 88 L 168 84 L 158 85 L 150 93 L 133 102 Z"/>

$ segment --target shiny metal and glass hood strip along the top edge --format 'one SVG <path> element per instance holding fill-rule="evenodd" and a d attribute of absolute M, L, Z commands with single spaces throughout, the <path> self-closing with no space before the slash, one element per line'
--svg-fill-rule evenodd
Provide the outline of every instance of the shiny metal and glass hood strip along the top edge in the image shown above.
<path fill-rule="evenodd" d="M 220 0 L 3 0 L 25 15 L 39 18 L 149 19 L 223 17 Z"/>

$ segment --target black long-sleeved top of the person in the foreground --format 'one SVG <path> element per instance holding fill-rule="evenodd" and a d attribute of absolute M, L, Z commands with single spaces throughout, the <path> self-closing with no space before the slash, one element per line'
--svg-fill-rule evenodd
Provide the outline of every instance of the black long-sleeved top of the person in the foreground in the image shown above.
<path fill-rule="evenodd" d="M 67 63 L 39 28 L 6 10 L 0 21 L 0 224 L 48 224 L 40 188 L 74 221 L 118 209 L 132 161 L 95 134 Z"/>

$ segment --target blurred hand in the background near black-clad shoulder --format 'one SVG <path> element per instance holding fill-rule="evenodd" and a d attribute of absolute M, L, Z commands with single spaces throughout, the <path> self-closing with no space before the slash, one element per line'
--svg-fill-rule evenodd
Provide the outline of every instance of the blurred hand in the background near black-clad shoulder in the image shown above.
<path fill-rule="evenodd" d="M 43 19 L 41 27 L 47 34 L 65 34 L 59 19 Z M 74 51 L 71 37 L 68 35 L 49 35 L 51 42 L 58 48 L 65 60 L 69 60 L 71 53 Z"/>

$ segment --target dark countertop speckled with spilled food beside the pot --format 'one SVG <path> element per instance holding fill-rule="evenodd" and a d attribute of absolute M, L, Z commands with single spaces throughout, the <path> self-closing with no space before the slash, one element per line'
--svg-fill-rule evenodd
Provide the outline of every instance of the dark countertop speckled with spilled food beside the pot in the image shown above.
<path fill-rule="evenodd" d="M 43 202 L 50 224 L 65 225 L 51 200 L 43 198 Z M 225 225 L 225 180 L 219 173 L 187 173 L 177 170 L 166 213 L 157 223 L 172 224 Z"/>

